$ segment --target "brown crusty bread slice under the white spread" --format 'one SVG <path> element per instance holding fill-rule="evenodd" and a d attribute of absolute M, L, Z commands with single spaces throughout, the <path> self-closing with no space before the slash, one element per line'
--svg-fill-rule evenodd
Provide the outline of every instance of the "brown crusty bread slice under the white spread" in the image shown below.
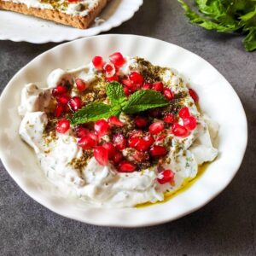
<path fill-rule="evenodd" d="M 102 9 L 104 9 L 107 3 L 108 0 L 98 0 L 94 8 L 88 10 L 88 15 L 86 16 L 67 15 L 57 9 L 28 8 L 24 3 L 2 0 L 0 0 L 0 9 L 14 11 L 24 15 L 32 15 L 44 20 L 52 20 L 64 25 L 85 29 L 102 12 Z"/>

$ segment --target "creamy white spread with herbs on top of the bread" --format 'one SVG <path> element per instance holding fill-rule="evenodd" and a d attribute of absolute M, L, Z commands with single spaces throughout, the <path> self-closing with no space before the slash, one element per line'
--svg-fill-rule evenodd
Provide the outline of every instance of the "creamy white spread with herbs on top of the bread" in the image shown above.
<path fill-rule="evenodd" d="M 3 0 L 10 2 L 10 0 Z M 41 0 L 12 0 L 13 3 L 23 3 L 26 4 L 28 8 L 38 8 L 38 9 L 57 9 L 61 13 L 67 15 L 79 15 L 86 16 L 90 9 L 93 9 L 96 4 L 99 3 L 99 0 L 80 0 L 78 2 L 68 2 L 67 0 L 55 1 L 58 5 L 57 7 L 53 6 L 48 1 Z M 63 4 L 65 3 L 65 4 Z"/>

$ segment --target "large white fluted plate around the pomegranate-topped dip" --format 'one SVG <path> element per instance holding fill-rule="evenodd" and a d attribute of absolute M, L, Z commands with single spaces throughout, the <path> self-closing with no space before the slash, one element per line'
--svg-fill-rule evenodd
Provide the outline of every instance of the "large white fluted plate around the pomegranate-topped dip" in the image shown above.
<path fill-rule="evenodd" d="M 124 44 L 125 42 L 125 44 Z M 36 156 L 18 135 L 17 107 L 24 84 L 45 81 L 57 67 L 79 67 L 94 55 L 107 57 L 114 51 L 139 55 L 154 64 L 174 67 L 194 85 L 201 109 L 218 121 L 218 159 L 193 186 L 170 201 L 143 208 L 102 209 L 79 199 L 63 198 L 40 170 Z M 0 155 L 3 165 L 26 194 L 44 207 L 89 224 L 138 227 L 180 218 L 204 206 L 235 176 L 247 145 L 247 119 L 231 85 L 200 56 L 175 44 L 132 35 L 102 35 L 61 44 L 39 55 L 9 82 L 0 100 Z M 221 211 L 221 209 L 219 209 Z"/>

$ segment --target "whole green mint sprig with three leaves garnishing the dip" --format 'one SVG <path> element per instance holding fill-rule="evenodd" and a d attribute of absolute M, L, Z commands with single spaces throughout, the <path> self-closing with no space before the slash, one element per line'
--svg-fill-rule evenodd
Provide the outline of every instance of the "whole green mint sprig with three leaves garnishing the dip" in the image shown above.
<path fill-rule="evenodd" d="M 73 125 L 95 122 L 99 119 L 108 119 L 120 113 L 138 113 L 150 108 L 160 108 L 168 105 L 166 98 L 155 90 L 138 90 L 129 98 L 125 96 L 123 86 L 118 82 L 109 83 L 107 96 L 110 105 L 102 102 L 92 102 L 73 114 Z"/>

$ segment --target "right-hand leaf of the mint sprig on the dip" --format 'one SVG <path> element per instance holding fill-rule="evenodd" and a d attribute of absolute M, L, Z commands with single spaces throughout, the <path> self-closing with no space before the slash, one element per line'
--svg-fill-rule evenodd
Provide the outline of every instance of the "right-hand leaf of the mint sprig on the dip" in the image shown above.
<path fill-rule="evenodd" d="M 168 105 L 166 98 L 155 90 L 138 90 L 131 95 L 122 108 L 125 113 L 137 113 L 150 108 L 165 107 Z"/>

